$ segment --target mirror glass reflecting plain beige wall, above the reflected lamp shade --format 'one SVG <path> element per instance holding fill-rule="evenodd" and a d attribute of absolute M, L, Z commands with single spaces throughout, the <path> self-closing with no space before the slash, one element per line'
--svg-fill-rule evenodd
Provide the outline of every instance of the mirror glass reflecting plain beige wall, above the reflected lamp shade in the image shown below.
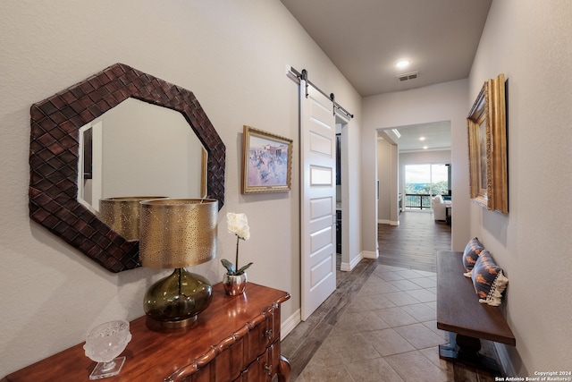
<path fill-rule="evenodd" d="M 181 113 L 127 98 L 80 129 L 78 201 L 206 195 L 206 150 Z"/>

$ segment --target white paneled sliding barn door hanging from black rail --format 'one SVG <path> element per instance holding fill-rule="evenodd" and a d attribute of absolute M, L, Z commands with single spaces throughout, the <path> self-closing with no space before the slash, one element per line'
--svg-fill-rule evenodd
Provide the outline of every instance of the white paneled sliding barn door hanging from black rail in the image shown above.
<path fill-rule="evenodd" d="M 336 289 L 335 116 L 333 103 L 300 81 L 301 318 Z"/>

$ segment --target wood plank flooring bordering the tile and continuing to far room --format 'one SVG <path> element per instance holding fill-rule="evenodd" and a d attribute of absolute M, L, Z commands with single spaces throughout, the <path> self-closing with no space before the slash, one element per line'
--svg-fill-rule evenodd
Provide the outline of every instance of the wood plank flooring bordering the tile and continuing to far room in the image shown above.
<path fill-rule="evenodd" d="M 336 329 L 336 325 L 340 324 L 344 313 L 351 310 L 351 302 L 359 298 L 360 293 L 363 293 L 361 291 L 364 284 L 383 271 L 383 268 L 388 268 L 387 266 L 435 272 L 436 252 L 438 250 L 450 250 L 450 226 L 444 222 L 434 222 L 431 213 L 404 212 L 400 215 L 400 225 L 379 225 L 378 230 L 380 257 L 378 259 L 363 259 L 351 272 L 341 272 L 338 267 L 336 291 L 324 301 L 307 321 L 301 322 L 282 340 L 282 354 L 290 360 L 292 367 L 291 381 L 297 379 L 299 381 L 324 380 L 329 382 L 341 380 L 326 377 L 327 369 L 324 369 L 324 373 L 318 373 L 323 374 L 322 379 L 308 379 L 305 376 L 309 373 L 302 374 L 302 372 L 308 363 L 315 365 L 315 362 L 310 361 L 324 344 L 328 335 L 331 335 L 332 331 L 335 334 L 335 330 L 340 332 L 339 329 Z M 407 271 L 404 270 L 404 272 Z M 347 329 L 344 327 L 343 330 Z M 471 382 L 493 380 L 490 379 L 492 376 L 484 375 L 475 369 L 467 369 L 457 365 L 454 367 L 450 365 L 449 368 L 450 377 L 445 380 Z M 315 366 L 313 370 L 315 370 Z M 377 375 L 377 377 L 375 380 L 383 381 L 386 379 L 384 375 Z M 342 379 L 344 381 L 353 380 L 351 378 Z"/>

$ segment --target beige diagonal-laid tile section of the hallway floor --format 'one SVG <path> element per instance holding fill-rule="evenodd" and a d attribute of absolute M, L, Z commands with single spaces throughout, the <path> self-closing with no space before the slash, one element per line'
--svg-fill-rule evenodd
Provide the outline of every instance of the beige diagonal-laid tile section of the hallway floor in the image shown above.
<path fill-rule="evenodd" d="M 439 359 L 433 272 L 378 265 L 296 378 L 318 381 L 452 381 Z"/>

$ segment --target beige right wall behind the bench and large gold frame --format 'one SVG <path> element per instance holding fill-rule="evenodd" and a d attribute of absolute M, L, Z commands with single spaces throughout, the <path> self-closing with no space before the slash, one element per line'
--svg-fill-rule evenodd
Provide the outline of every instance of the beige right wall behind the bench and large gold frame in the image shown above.
<path fill-rule="evenodd" d="M 471 205 L 470 232 L 509 277 L 519 376 L 572 366 L 570 20 L 568 0 L 492 2 L 469 77 L 467 110 L 485 80 L 502 72 L 509 84 L 509 214 Z"/>

